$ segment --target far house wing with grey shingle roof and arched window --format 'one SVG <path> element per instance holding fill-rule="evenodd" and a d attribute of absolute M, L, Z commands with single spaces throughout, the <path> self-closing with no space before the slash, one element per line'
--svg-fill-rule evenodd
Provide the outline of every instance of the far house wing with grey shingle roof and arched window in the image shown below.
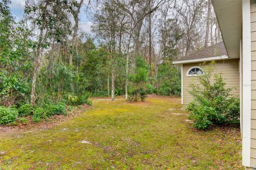
<path fill-rule="evenodd" d="M 230 59 L 223 42 L 206 47 L 203 50 L 191 53 L 183 58 L 173 61 L 181 66 L 181 104 L 183 108 L 193 100 L 189 94 L 189 86 L 196 83 L 195 76 L 203 74 L 204 63 L 214 60 L 214 71 L 225 79 L 226 87 L 234 87 L 231 92 L 239 95 L 239 59 Z"/>

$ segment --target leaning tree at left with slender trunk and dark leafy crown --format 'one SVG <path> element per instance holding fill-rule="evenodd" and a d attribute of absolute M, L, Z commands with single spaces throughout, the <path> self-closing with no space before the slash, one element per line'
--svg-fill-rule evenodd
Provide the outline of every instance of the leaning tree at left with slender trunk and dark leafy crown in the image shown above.
<path fill-rule="evenodd" d="M 74 4 L 71 1 L 69 3 L 53 0 L 42 0 L 37 3 L 34 1 L 26 1 L 26 17 L 30 19 L 31 22 L 34 23 L 35 28 L 39 30 L 30 94 L 30 102 L 32 105 L 34 105 L 36 101 L 36 79 L 41 66 L 42 50 L 51 39 L 54 38 L 55 41 L 61 42 L 63 37 L 68 36 L 67 30 L 71 25 L 69 15 L 73 8 Z"/>

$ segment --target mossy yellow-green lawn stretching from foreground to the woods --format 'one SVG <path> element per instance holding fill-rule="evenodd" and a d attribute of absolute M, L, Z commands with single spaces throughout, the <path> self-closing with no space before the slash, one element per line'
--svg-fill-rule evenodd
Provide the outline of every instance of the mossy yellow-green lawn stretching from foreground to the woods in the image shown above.
<path fill-rule="evenodd" d="M 58 126 L 4 132 L 1 168 L 243 169 L 239 129 L 196 131 L 179 101 L 96 100 Z"/>

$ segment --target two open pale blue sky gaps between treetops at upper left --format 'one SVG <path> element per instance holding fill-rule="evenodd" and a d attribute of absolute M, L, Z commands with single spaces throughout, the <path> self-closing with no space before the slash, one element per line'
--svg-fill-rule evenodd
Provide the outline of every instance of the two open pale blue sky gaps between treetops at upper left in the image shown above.
<path fill-rule="evenodd" d="M 84 2 L 86 4 L 87 1 Z M 25 7 L 25 0 L 11 0 L 10 10 L 17 21 L 19 21 L 23 17 L 23 11 Z M 92 22 L 87 18 L 85 13 L 85 7 L 81 10 L 81 14 L 79 15 L 79 29 L 84 31 L 86 34 L 92 34 L 91 26 Z"/>

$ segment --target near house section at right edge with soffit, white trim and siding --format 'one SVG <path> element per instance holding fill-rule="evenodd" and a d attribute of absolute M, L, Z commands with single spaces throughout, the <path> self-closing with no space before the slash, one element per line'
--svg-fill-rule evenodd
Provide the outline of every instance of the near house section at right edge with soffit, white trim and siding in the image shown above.
<path fill-rule="evenodd" d="M 239 61 L 242 164 L 256 169 L 256 0 L 211 1 L 227 50 L 228 59 L 223 61 Z M 237 64 L 233 66 L 237 69 Z M 186 68 L 184 64 L 183 71 Z"/>

